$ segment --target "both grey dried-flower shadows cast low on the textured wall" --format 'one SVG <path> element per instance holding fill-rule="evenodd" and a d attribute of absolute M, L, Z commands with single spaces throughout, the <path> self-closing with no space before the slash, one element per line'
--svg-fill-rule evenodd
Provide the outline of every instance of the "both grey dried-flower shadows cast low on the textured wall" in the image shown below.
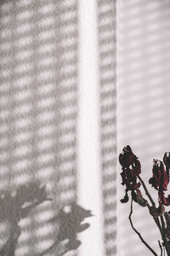
<path fill-rule="evenodd" d="M 14 193 L 9 190 L 1 191 L 0 221 L 3 226 L 7 227 L 8 231 L 5 232 L 8 236 L 0 248 L 0 256 L 15 255 L 22 233 L 20 220 L 29 217 L 31 211 L 45 201 L 52 201 L 52 199 L 48 197 L 45 186 L 38 182 L 21 185 Z M 60 208 L 56 216 L 48 220 L 52 224 L 59 224 L 54 243 L 42 253 L 37 253 L 36 256 L 45 256 L 54 248 L 56 256 L 77 249 L 81 245 L 81 241 L 77 240 L 77 233 L 88 229 L 89 224 L 82 224 L 82 222 L 91 216 L 93 216 L 91 211 L 82 208 L 77 203 Z"/>

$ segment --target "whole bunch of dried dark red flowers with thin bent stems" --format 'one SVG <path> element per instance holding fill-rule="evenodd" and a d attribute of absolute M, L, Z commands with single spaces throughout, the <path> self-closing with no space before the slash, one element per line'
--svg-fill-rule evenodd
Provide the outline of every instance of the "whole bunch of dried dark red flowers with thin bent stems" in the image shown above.
<path fill-rule="evenodd" d="M 125 196 L 121 200 L 122 203 L 127 203 L 129 200 L 128 193 L 131 194 L 131 207 L 129 213 L 129 221 L 139 236 L 139 239 L 154 255 L 158 255 L 150 245 L 144 241 L 143 236 L 133 225 L 133 201 L 139 204 L 140 207 L 147 207 L 150 213 L 150 217 L 153 218 L 158 230 L 161 233 L 161 241 L 158 241 L 161 256 L 167 253 L 170 256 L 170 212 L 165 211 L 165 207 L 170 206 L 170 195 L 165 195 L 167 185 L 169 183 L 169 171 L 170 171 L 170 153 L 167 152 L 163 156 L 163 161 L 153 160 L 152 177 L 150 177 L 149 183 L 157 191 L 158 195 L 158 206 L 153 200 L 152 196 L 144 183 L 144 180 L 140 176 L 141 165 L 138 157 L 133 154 L 130 146 L 122 149 L 122 154 L 119 155 L 119 162 L 122 166 L 122 185 L 126 187 Z M 140 187 L 143 187 L 145 195 L 141 193 Z"/>

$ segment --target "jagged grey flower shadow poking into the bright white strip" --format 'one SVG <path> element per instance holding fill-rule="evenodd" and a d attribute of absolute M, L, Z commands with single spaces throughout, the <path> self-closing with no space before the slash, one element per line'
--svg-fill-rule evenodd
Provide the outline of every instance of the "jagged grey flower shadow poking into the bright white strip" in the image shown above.
<path fill-rule="evenodd" d="M 89 228 L 90 224 L 84 223 L 84 221 L 92 216 L 94 215 L 91 211 L 86 210 L 76 202 L 62 207 L 54 218 L 49 219 L 49 222 L 59 224 L 58 236 L 55 238 L 54 244 L 38 256 L 46 255 L 46 253 L 49 253 L 57 245 L 62 245 L 62 243 L 65 246 L 61 246 L 57 256 L 76 250 L 82 243 L 77 239 L 77 234 Z"/>

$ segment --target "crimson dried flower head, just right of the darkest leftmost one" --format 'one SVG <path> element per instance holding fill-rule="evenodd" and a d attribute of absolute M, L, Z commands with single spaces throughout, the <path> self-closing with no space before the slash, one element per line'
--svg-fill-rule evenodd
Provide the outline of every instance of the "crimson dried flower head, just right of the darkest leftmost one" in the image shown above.
<path fill-rule="evenodd" d="M 170 205 L 170 196 L 165 197 L 164 191 L 167 190 L 167 185 L 169 183 L 169 177 L 165 171 L 164 165 L 160 160 L 154 160 L 154 165 L 152 168 L 153 177 L 150 177 L 149 183 L 158 190 L 159 203 L 165 206 Z"/>

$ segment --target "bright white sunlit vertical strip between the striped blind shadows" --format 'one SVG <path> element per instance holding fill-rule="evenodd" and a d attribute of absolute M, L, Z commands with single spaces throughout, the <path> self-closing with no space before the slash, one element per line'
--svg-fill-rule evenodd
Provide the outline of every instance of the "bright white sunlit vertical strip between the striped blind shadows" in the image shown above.
<path fill-rule="evenodd" d="M 79 1 L 78 199 L 94 217 L 81 235 L 81 256 L 103 256 L 99 147 L 99 66 L 97 2 Z"/>

